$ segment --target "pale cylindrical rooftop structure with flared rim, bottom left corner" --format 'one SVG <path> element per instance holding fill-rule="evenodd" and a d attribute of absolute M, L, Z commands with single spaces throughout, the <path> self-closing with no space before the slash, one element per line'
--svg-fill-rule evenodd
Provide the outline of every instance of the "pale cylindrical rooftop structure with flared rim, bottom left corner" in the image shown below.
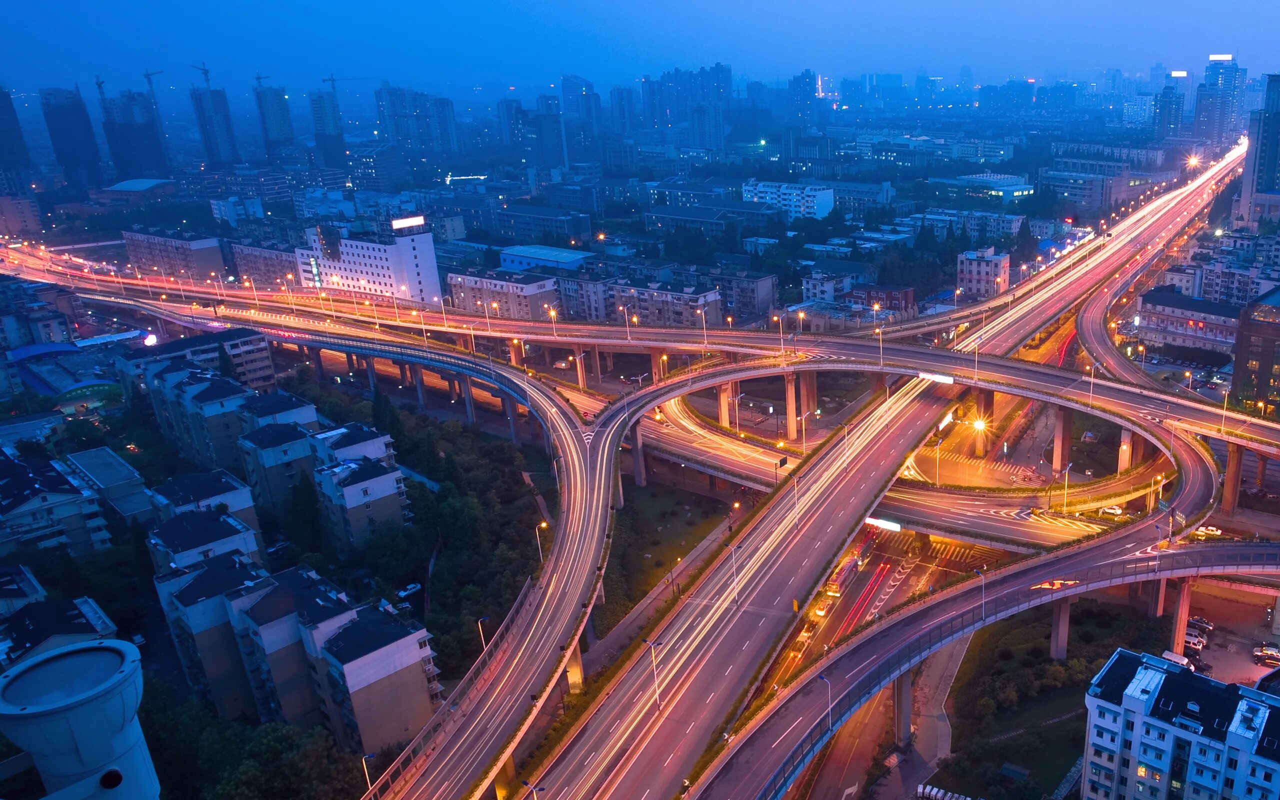
<path fill-rule="evenodd" d="M 138 724 L 138 649 L 115 639 L 50 650 L 0 675 L 0 733 L 31 754 L 49 792 L 156 800 Z"/>

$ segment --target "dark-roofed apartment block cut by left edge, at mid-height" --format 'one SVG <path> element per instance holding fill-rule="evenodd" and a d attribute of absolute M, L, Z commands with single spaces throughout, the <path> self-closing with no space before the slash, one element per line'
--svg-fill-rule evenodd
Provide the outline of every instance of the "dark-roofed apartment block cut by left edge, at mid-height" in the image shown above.
<path fill-rule="evenodd" d="M 54 547 L 72 554 L 111 547 L 97 493 L 60 461 L 0 449 L 0 554 Z"/>

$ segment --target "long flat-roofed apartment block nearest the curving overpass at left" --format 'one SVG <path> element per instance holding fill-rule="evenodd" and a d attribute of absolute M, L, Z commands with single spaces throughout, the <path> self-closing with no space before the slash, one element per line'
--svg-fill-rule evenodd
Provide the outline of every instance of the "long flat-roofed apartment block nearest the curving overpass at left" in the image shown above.
<path fill-rule="evenodd" d="M 230 356 L 236 380 L 260 392 L 275 389 L 275 367 L 271 366 L 271 351 L 266 337 L 248 328 L 228 328 L 218 333 L 173 339 L 155 347 L 131 349 L 116 357 L 115 366 L 120 372 L 125 396 L 132 396 L 132 392 L 142 384 L 147 365 L 186 360 L 206 370 L 218 370 L 220 352 Z"/>

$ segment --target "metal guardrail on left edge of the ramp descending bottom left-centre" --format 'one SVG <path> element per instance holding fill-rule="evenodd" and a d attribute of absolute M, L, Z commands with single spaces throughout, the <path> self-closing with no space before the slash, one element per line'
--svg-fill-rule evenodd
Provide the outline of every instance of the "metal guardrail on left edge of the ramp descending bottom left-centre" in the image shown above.
<path fill-rule="evenodd" d="M 393 796 L 397 788 L 411 786 L 410 778 L 416 777 L 426 767 L 428 756 L 436 749 L 436 740 L 448 736 L 461 724 L 467 712 L 475 704 L 475 695 L 472 692 L 484 691 L 493 680 L 489 666 L 500 662 L 500 657 L 506 655 L 511 649 L 509 634 L 512 628 L 536 608 L 536 603 L 527 602 L 532 586 L 532 579 L 526 577 L 525 586 L 520 590 L 520 595 L 516 596 L 516 602 L 512 604 L 507 617 L 489 640 L 489 646 L 471 664 L 471 669 L 467 671 L 466 676 L 463 676 L 462 681 L 453 690 L 453 694 L 449 695 L 449 700 L 431 716 L 417 736 L 413 737 L 413 741 L 374 781 L 374 785 L 365 792 L 361 800 L 383 800 Z M 454 700 L 454 698 L 458 698 L 458 700 Z"/>

